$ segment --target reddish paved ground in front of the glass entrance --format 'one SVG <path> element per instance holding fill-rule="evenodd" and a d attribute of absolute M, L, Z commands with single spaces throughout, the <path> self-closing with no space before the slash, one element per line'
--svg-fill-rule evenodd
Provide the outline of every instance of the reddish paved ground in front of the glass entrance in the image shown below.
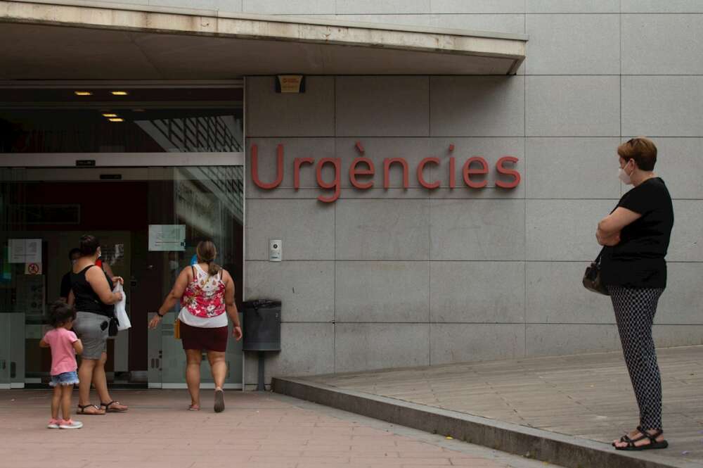
<path fill-rule="evenodd" d="M 209 391 L 205 391 L 210 396 Z M 0 391 L 3 468 L 538 468 L 544 464 L 273 393 L 115 391 L 129 412 L 46 429 L 51 391 Z M 74 402 L 75 403 L 75 402 Z"/>

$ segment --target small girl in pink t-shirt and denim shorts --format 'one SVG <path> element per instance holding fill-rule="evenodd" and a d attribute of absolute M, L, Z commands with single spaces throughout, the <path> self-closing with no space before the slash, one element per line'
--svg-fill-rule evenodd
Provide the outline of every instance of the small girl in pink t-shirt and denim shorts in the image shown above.
<path fill-rule="evenodd" d="M 74 384 L 78 384 L 76 353 L 83 352 L 83 344 L 71 331 L 76 312 L 70 305 L 57 301 L 51 306 L 51 327 L 39 341 L 42 348 L 51 348 L 51 419 L 49 429 L 80 429 L 83 423 L 71 419 L 71 395 Z M 63 419 L 58 419 L 61 409 Z"/>

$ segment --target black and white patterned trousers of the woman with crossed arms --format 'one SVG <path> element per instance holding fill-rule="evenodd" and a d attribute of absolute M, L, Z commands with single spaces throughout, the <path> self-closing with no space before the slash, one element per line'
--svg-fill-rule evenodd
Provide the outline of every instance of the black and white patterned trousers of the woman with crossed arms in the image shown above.
<path fill-rule="evenodd" d="M 642 429 L 662 429 L 662 379 L 652 322 L 664 289 L 608 286 Z"/>

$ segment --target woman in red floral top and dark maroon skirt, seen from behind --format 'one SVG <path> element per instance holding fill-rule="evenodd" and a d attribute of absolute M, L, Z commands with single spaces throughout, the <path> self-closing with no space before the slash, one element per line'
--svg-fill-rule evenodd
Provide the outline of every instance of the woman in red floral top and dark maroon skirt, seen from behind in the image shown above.
<path fill-rule="evenodd" d="M 222 388 L 227 375 L 227 316 L 234 324 L 232 336 L 237 341 L 242 338 L 242 328 L 234 303 L 234 280 L 226 270 L 214 263 L 217 257 L 215 245 L 202 241 L 195 252 L 198 263 L 181 270 L 173 289 L 149 322 L 149 328 L 155 329 L 162 317 L 181 300 L 178 320 L 183 350 L 186 351 L 186 382 L 191 393 L 188 409 L 200 410 L 200 361 L 202 350 L 207 350 L 207 360 L 215 381 L 214 411 L 221 412 L 224 410 Z"/>

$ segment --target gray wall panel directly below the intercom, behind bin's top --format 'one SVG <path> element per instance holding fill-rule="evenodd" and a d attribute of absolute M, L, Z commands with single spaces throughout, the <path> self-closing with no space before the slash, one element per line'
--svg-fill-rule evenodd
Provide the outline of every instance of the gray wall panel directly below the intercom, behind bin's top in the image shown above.
<path fill-rule="evenodd" d="M 283 322 L 335 320 L 335 263 L 332 261 L 250 261 L 245 271 L 247 301 L 283 302 Z"/>

